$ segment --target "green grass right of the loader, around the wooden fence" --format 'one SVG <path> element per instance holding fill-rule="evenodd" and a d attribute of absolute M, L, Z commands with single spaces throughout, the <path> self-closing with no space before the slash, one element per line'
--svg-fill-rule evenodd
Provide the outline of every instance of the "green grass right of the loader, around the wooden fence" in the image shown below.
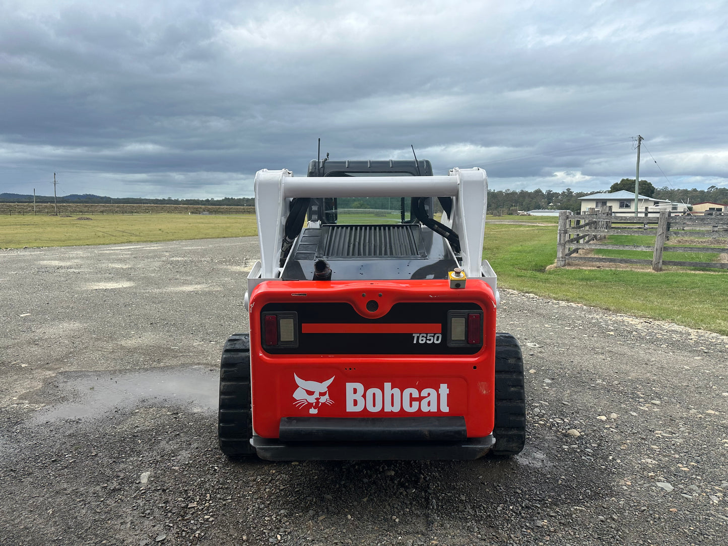
<path fill-rule="evenodd" d="M 630 244 L 644 244 L 634 241 L 634 237 L 629 240 Z M 498 274 L 498 285 L 504 288 L 728 335 L 728 314 L 724 311 L 728 306 L 728 272 L 723 270 L 695 272 L 666 268 L 655 273 L 553 268 L 547 271 L 547 266 L 556 259 L 556 226 L 488 224 L 484 249 L 483 257 Z M 684 254 L 680 256 L 685 259 Z M 692 259 L 697 259 L 696 256 L 714 255 L 696 254 Z"/>

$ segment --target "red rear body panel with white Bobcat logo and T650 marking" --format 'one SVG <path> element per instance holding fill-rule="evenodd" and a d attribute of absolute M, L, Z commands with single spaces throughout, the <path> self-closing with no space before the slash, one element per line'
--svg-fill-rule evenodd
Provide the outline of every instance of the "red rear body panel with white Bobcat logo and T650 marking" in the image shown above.
<path fill-rule="evenodd" d="M 446 309 L 464 305 L 483 313 L 472 350 L 448 347 Z M 250 296 L 254 432 L 279 438 L 285 417 L 463 416 L 468 438 L 490 435 L 495 309 L 479 279 L 261 282 Z M 264 344 L 271 311 L 297 312 L 297 347 Z"/>

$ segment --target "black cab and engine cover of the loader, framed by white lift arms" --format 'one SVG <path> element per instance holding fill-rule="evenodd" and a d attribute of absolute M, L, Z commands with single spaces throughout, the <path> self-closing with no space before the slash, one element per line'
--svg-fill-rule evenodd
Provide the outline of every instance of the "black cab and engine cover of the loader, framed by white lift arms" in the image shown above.
<path fill-rule="evenodd" d="M 365 178 L 372 176 L 432 176 L 432 164 L 426 159 L 322 159 L 309 163 L 308 176 L 359 177 L 365 188 Z M 281 278 L 311 280 L 314 264 L 320 260 L 331 267 L 333 280 L 446 278 L 459 266 L 459 240 L 434 217 L 449 215 L 451 202 L 450 197 L 440 197 L 435 209 L 433 197 L 293 199 L 289 218 L 298 216 L 302 227 L 301 213 L 306 206 L 308 221 L 290 248 Z M 288 228 L 287 222 L 286 237 L 293 239 L 296 229 Z"/>

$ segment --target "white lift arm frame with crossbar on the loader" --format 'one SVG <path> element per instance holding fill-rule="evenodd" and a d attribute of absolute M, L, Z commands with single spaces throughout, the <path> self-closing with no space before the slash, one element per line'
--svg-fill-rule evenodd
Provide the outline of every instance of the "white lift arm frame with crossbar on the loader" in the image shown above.
<path fill-rule="evenodd" d="M 290 170 L 263 169 L 256 173 L 255 189 L 262 279 L 278 276 L 285 220 L 294 197 L 452 197 L 451 218 L 443 215 L 442 223 L 460 237 L 465 274 L 480 277 L 488 177 L 478 167 L 454 168 L 447 176 L 321 178 L 295 178 Z"/>

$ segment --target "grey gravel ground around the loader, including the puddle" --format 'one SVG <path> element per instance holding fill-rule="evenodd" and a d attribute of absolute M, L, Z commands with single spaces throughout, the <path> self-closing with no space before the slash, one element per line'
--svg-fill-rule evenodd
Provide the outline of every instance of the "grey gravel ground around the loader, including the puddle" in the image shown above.
<path fill-rule="evenodd" d="M 219 352 L 257 253 L 0 251 L 0 544 L 726 543 L 728 338 L 507 290 L 521 455 L 227 460 Z"/>

